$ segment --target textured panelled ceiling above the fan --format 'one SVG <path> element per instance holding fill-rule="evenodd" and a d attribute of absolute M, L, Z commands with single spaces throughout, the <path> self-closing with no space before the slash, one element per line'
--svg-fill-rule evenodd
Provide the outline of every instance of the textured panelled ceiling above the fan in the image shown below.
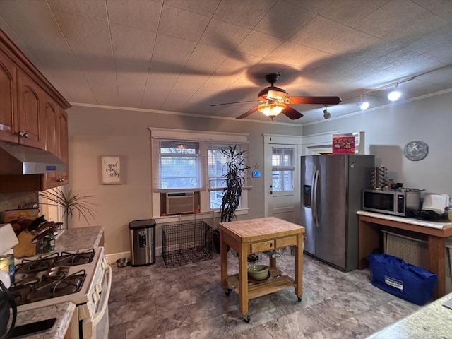
<path fill-rule="evenodd" d="M 210 105 L 280 73 L 289 95 L 340 96 L 338 117 L 396 83 L 405 100 L 452 88 L 451 0 L 0 0 L 0 28 L 72 105 L 237 117 L 255 105 Z M 292 107 L 275 121 L 323 119 Z"/>

